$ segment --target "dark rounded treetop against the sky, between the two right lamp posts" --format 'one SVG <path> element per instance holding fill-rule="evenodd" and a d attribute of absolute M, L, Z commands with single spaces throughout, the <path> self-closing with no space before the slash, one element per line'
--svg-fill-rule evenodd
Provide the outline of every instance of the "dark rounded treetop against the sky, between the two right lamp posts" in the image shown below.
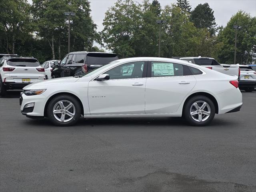
<path fill-rule="evenodd" d="M 191 20 L 196 28 L 206 28 L 210 31 L 211 35 L 216 32 L 216 22 L 214 11 L 210 8 L 208 3 L 198 4 L 191 12 Z"/>

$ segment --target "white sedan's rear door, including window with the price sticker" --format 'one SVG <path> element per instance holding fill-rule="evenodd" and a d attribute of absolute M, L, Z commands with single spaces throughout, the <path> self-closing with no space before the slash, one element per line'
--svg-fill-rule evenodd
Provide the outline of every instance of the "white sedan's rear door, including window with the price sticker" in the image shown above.
<path fill-rule="evenodd" d="M 176 112 L 195 84 L 196 79 L 184 64 L 149 62 L 145 90 L 146 114 Z"/>

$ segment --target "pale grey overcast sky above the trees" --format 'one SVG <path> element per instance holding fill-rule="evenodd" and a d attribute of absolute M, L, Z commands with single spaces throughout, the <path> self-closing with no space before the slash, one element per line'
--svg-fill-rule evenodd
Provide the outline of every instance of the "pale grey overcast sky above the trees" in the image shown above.
<path fill-rule="evenodd" d="M 134 0 L 135 2 L 142 2 L 143 0 Z M 158 0 L 162 8 L 166 5 L 176 3 L 176 0 Z M 106 10 L 109 7 L 114 6 L 116 0 L 90 0 L 91 2 L 91 14 L 92 19 L 98 25 L 98 31 L 103 29 L 102 22 L 105 16 Z M 150 0 L 152 2 L 152 0 Z M 230 20 L 231 16 L 236 14 L 238 10 L 244 10 L 250 13 L 251 16 L 256 16 L 256 0 L 190 0 L 192 10 L 198 4 L 204 4 L 207 2 L 210 8 L 214 10 L 214 16 L 216 23 L 221 26 L 226 26 L 226 23 Z"/>

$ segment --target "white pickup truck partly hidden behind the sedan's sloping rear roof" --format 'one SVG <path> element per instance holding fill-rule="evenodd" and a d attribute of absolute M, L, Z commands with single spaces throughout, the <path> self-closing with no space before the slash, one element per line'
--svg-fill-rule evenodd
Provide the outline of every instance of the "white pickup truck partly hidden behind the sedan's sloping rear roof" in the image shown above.
<path fill-rule="evenodd" d="M 193 64 L 201 65 L 209 69 L 227 74 L 240 76 L 240 70 L 238 66 L 232 66 L 229 64 L 219 64 L 214 58 L 210 57 L 174 57 L 173 59 L 185 60 Z"/>

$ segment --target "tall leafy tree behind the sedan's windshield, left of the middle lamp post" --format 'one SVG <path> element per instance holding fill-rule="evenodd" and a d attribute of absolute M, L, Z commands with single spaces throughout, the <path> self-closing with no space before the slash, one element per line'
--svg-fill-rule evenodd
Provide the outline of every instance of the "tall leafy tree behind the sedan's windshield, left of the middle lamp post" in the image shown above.
<path fill-rule="evenodd" d="M 134 33 L 139 22 L 140 7 L 133 0 L 118 0 L 105 13 L 101 36 L 106 48 L 120 58 L 134 56 Z"/>

